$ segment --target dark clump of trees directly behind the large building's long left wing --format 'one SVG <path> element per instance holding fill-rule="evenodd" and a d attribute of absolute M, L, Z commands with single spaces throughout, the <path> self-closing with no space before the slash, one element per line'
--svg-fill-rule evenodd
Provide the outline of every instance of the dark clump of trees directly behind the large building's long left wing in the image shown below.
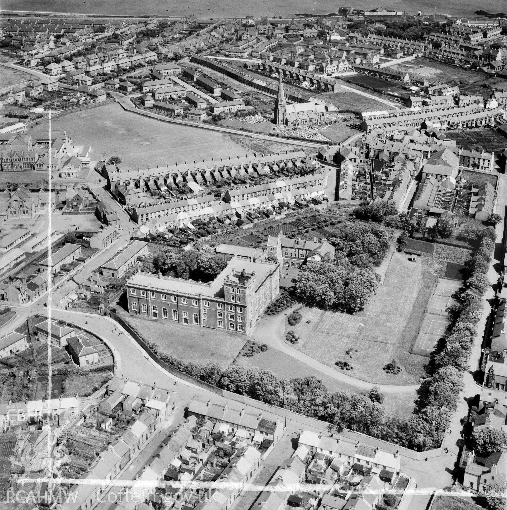
<path fill-rule="evenodd" d="M 193 249 L 182 253 L 165 250 L 157 254 L 153 265 L 157 272 L 173 271 L 178 278 L 211 282 L 225 268 L 227 259 L 220 255 L 207 255 Z"/>

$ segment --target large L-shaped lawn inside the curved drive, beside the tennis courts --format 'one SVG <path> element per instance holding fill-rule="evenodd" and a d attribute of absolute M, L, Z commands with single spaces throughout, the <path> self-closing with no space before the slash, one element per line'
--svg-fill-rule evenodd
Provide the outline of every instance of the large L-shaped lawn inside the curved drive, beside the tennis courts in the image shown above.
<path fill-rule="evenodd" d="M 301 337 L 297 349 L 322 363 L 334 367 L 338 360 L 348 361 L 353 369 L 347 373 L 353 377 L 372 384 L 417 384 L 428 360 L 409 350 L 439 272 L 432 259 L 421 258 L 415 264 L 406 254 L 395 252 L 383 284 L 365 310 L 348 315 L 305 307 L 299 325 L 286 330 L 293 329 Z M 352 359 L 345 353 L 349 348 Z M 382 370 L 392 358 L 404 369 L 398 375 Z"/>

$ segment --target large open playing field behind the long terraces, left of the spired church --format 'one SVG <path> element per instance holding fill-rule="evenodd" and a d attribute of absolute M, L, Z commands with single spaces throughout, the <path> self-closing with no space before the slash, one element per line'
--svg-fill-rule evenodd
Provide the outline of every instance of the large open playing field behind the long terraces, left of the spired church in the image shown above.
<path fill-rule="evenodd" d="M 126 168 L 146 168 L 167 163 L 245 156 L 248 151 L 232 137 L 197 127 L 160 122 L 125 112 L 108 104 L 53 120 L 53 131 L 67 135 L 78 145 L 90 145 L 92 160 L 118 155 Z M 46 131 L 47 123 L 37 131 Z M 249 140 L 246 137 L 237 137 Z M 243 140 L 242 140 L 243 141 Z M 292 150 L 294 145 L 261 142 L 264 154 L 272 149 Z"/>

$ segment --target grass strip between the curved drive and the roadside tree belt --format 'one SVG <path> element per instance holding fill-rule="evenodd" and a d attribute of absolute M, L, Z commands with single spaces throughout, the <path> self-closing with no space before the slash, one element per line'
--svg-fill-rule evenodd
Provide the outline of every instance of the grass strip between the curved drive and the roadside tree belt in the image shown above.
<path fill-rule="evenodd" d="M 358 389 L 355 386 L 333 379 L 319 370 L 309 367 L 305 363 L 300 362 L 292 356 L 272 347 L 265 352 L 255 354 L 252 358 L 244 358 L 243 356 L 240 356 L 236 363 L 245 367 L 257 367 L 261 370 L 272 370 L 279 377 L 290 377 L 291 379 L 295 377 L 303 378 L 313 375 L 320 379 L 322 384 L 325 385 L 331 393 L 335 391 L 358 392 Z M 382 405 L 385 407 L 386 414 L 409 416 L 414 411 L 414 396 L 411 394 L 386 394 Z"/>

